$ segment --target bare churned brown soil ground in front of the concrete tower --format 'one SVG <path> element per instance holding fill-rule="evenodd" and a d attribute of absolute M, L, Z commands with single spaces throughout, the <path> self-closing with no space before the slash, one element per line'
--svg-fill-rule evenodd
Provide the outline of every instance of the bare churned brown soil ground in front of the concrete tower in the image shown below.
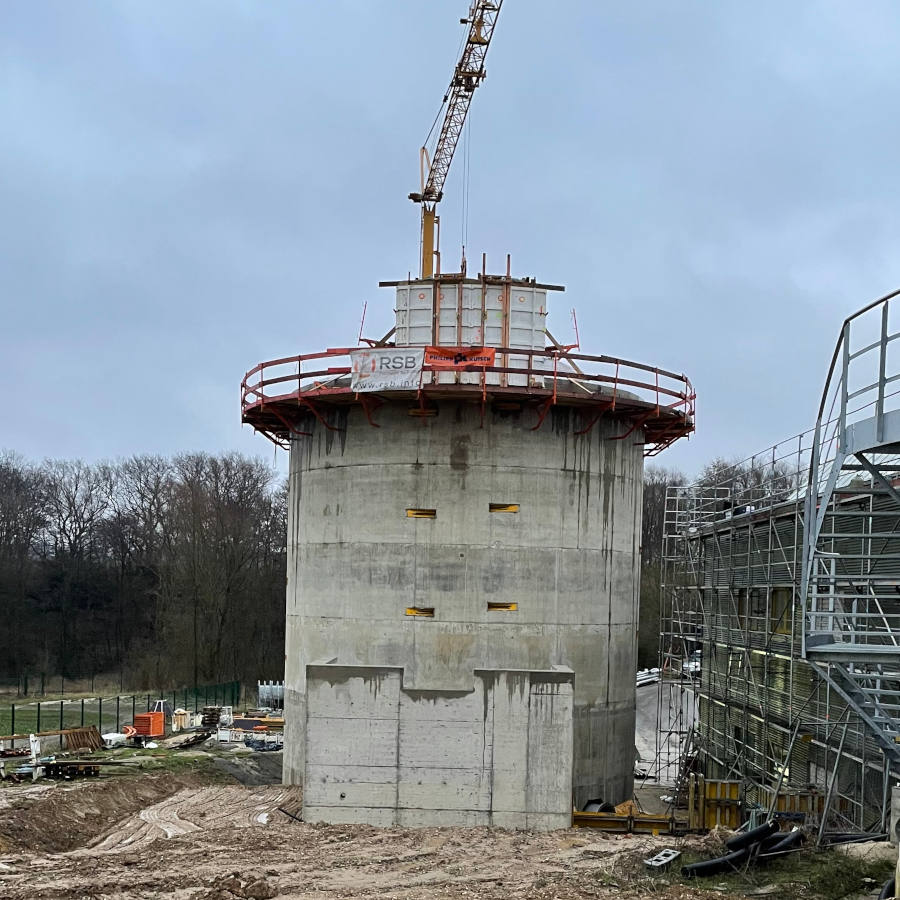
<path fill-rule="evenodd" d="M 643 860 L 664 847 L 712 857 L 719 835 L 311 825 L 288 815 L 301 794 L 277 783 L 280 756 L 162 751 L 97 780 L 3 786 L 0 897 L 876 897 L 889 868 L 805 854 L 701 884 L 677 868 L 651 876 Z"/>

